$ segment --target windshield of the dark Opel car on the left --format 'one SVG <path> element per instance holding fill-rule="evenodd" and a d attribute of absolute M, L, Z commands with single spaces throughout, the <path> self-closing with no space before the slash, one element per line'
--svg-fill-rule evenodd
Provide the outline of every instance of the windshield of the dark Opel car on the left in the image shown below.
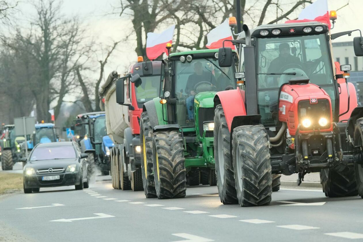
<path fill-rule="evenodd" d="M 72 158 L 76 158 L 76 152 L 72 145 L 37 147 L 34 149 L 32 156 L 30 157 L 30 161 Z"/>

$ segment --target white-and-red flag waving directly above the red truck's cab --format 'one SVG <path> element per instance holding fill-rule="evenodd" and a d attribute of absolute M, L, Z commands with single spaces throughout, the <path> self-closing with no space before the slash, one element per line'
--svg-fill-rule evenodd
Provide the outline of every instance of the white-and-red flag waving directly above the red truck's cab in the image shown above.
<path fill-rule="evenodd" d="M 162 33 L 147 33 L 146 38 L 146 56 L 150 60 L 158 58 L 161 54 L 168 54 L 166 44 L 173 41 L 175 25 L 164 30 Z"/>

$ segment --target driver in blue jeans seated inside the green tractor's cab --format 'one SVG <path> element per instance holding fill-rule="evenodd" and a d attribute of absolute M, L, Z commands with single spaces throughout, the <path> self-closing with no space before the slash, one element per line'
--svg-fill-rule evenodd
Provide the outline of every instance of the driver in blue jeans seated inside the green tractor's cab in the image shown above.
<path fill-rule="evenodd" d="M 193 74 L 189 75 L 187 86 L 185 86 L 185 93 L 189 95 L 186 100 L 187 110 L 188 110 L 188 118 L 190 121 L 194 120 L 193 114 L 193 103 L 194 103 L 194 96 L 197 94 L 195 87 L 200 82 L 210 82 L 216 83 L 216 78 L 212 74 L 212 72 L 206 72 L 203 70 L 203 65 L 201 62 L 194 63 L 194 72 Z"/>

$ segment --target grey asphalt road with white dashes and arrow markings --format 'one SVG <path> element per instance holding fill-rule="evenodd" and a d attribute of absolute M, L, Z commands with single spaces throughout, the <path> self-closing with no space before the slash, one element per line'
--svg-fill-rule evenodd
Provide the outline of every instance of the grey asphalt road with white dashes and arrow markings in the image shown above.
<path fill-rule="evenodd" d="M 273 193 L 269 206 L 241 208 L 221 204 L 215 186 L 158 200 L 115 190 L 108 179 L 98 176 L 90 189 L 0 197 L 0 241 L 363 241 L 358 196 L 286 188 Z"/>

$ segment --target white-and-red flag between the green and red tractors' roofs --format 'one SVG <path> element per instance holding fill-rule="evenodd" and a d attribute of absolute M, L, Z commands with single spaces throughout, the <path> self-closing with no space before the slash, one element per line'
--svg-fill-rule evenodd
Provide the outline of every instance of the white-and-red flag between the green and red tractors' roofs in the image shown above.
<path fill-rule="evenodd" d="M 229 27 L 228 19 L 224 20 L 223 23 L 218 25 L 216 28 L 212 29 L 211 32 L 207 34 L 208 43 L 205 45 L 208 49 L 218 49 L 223 47 L 224 40 L 233 40 L 232 30 Z M 232 42 L 224 42 L 224 47 L 235 48 Z"/>

